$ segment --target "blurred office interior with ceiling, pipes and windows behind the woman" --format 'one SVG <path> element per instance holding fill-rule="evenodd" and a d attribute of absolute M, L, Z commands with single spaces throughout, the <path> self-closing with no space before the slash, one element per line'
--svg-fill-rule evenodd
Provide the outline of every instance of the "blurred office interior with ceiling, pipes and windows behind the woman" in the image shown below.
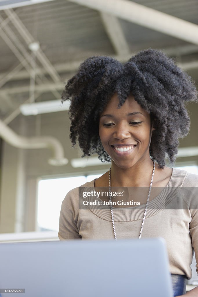
<path fill-rule="evenodd" d="M 57 239 L 66 193 L 109 169 L 69 140 L 61 92 L 80 63 L 157 48 L 197 85 L 197 15 L 197 0 L 0 1 L 1 241 Z M 198 174 L 198 105 L 187 108 L 175 167 Z"/>

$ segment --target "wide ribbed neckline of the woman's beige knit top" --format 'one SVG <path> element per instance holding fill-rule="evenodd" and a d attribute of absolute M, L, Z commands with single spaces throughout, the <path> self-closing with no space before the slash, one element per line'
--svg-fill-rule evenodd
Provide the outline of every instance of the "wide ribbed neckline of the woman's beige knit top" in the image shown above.
<path fill-rule="evenodd" d="M 171 203 L 172 199 L 175 197 L 175 195 L 180 191 L 183 182 L 186 178 L 187 171 L 180 170 L 177 168 L 172 168 L 172 175 L 170 178 L 170 181 L 168 182 L 167 186 L 164 187 L 162 192 L 156 196 L 153 200 L 151 200 L 148 203 L 148 209 L 146 218 L 152 217 L 155 214 L 159 213 L 163 209 L 167 207 L 168 204 Z M 85 191 L 94 191 L 94 183 L 95 179 L 93 181 L 87 182 L 84 185 L 80 186 L 79 195 L 81 194 L 81 197 L 83 200 L 89 201 L 95 201 L 96 199 L 94 197 L 89 198 L 83 198 L 82 192 Z M 82 187 L 82 188 L 81 188 Z M 90 189 L 91 187 L 91 189 Z M 100 200 L 99 198 L 97 200 Z M 100 200 L 102 201 L 102 200 Z M 115 222 L 131 222 L 131 221 L 137 221 L 142 219 L 145 211 L 145 204 L 142 204 L 140 206 L 134 206 L 129 208 L 114 208 L 113 207 L 113 217 Z M 96 206 L 87 206 L 97 217 L 100 217 L 101 219 L 111 221 L 111 212 L 110 208 L 107 209 L 107 206 L 100 206 L 99 209 Z"/>

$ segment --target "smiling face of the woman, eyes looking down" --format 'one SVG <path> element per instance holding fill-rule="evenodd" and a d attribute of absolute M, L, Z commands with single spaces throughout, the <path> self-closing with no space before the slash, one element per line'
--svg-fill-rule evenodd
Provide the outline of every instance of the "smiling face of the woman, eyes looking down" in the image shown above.
<path fill-rule="evenodd" d="M 120 168 L 130 168 L 145 161 L 149 156 L 151 143 L 150 115 L 132 95 L 118 108 L 117 94 L 100 114 L 99 136 L 112 162 Z"/>

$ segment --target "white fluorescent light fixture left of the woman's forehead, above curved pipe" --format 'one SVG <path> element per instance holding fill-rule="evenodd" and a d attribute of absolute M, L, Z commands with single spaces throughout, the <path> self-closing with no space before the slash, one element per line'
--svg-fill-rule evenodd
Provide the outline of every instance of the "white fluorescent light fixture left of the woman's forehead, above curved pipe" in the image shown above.
<path fill-rule="evenodd" d="M 22 104 L 20 106 L 20 112 L 24 116 L 36 116 L 40 113 L 50 113 L 63 110 L 69 110 L 69 101 L 65 101 L 63 104 L 61 100 L 50 100 L 43 102 L 35 102 L 29 104 Z"/>

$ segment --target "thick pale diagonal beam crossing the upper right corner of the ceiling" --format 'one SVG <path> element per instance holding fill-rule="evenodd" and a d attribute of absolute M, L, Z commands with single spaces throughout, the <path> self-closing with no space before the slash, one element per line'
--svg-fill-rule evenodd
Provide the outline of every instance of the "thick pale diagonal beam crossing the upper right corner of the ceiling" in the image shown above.
<path fill-rule="evenodd" d="M 67 0 L 198 45 L 198 25 L 128 0 Z"/>

